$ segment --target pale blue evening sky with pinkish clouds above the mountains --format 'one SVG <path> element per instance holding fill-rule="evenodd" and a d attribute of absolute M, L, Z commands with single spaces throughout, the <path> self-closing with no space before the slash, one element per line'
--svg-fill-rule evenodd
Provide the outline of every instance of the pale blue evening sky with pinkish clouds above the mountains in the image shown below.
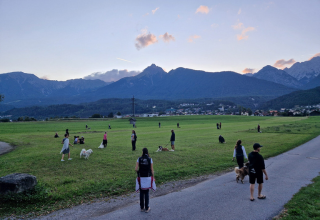
<path fill-rule="evenodd" d="M 50 80 L 290 67 L 320 53 L 320 1 L 0 0 L 0 73 Z"/>

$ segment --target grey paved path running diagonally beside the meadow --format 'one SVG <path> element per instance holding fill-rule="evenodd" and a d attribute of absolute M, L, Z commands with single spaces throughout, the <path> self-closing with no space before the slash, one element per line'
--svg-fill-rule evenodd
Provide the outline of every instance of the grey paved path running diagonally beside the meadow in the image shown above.
<path fill-rule="evenodd" d="M 292 195 L 319 175 L 320 136 L 270 158 L 266 169 L 269 180 L 265 181 L 262 191 L 267 196 L 265 200 L 251 202 L 248 177 L 244 184 L 237 184 L 231 172 L 180 192 L 153 198 L 149 213 L 140 212 L 135 203 L 93 219 L 272 219 Z"/>

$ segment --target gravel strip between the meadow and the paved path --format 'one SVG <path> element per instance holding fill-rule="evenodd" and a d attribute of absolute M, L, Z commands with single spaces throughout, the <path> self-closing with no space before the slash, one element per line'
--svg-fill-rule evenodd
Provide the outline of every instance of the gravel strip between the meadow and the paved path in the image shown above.
<path fill-rule="evenodd" d="M 162 185 L 159 185 L 155 192 L 150 191 L 150 198 L 181 191 L 185 188 L 197 185 L 198 183 L 201 183 L 203 181 L 214 179 L 232 170 L 233 169 L 228 169 L 210 175 L 204 175 L 199 177 L 193 177 L 191 179 L 177 180 L 164 183 Z M 139 195 L 139 193 L 134 192 L 117 197 L 105 197 L 102 199 L 96 199 L 91 203 L 85 203 L 82 205 L 74 206 L 72 208 L 59 210 L 37 219 L 88 219 L 101 216 L 109 212 L 113 212 L 115 210 L 132 204 L 136 204 L 137 209 L 139 209 Z"/>

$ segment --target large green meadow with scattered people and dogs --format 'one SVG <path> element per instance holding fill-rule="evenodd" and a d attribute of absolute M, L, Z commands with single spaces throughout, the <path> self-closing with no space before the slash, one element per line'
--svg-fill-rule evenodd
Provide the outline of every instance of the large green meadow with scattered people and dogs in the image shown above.
<path fill-rule="evenodd" d="M 181 128 L 176 128 L 177 122 Z M 216 129 L 217 122 L 222 122 L 222 130 Z M 258 123 L 262 133 L 256 132 Z M 86 124 L 91 130 L 85 130 Z M 132 152 L 128 119 L 1 123 L 0 141 L 16 149 L 0 156 L 0 176 L 29 173 L 37 177 L 39 187 L 36 194 L 2 202 L 0 216 L 43 214 L 94 198 L 133 192 L 134 167 L 144 147 L 153 158 L 158 185 L 234 167 L 231 159 L 238 139 L 247 153 L 258 142 L 264 145 L 265 158 L 275 156 L 319 135 L 320 117 L 176 116 L 138 118 L 136 125 L 137 150 Z M 70 147 L 73 160 L 61 162 L 66 128 L 71 140 L 75 135 L 84 136 L 86 144 Z M 159 145 L 169 142 L 171 129 L 176 133 L 176 151 L 156 153 Z M 108 132 L 108 147 L 98 149 L 104 131 Z M 53 138 L 55 132 L 61 138 Z M 218 143 L 220 134 L 226 144 Z M 89 160 L 79 158 L 82 148 L 93 150 Z"/>

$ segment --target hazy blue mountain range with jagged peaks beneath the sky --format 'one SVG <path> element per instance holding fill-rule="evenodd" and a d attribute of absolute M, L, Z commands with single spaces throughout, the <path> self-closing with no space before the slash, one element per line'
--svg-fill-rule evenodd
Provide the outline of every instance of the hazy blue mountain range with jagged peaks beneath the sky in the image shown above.
<path fill-rule="evenodd" d="M 165 72 L 152 64 L 140 74 L 113 83 L 102 80 L 73 79 L 54 81 L 34 74 L 0 74 L 0 94 L 5 96 L 0 111 L 26 106 L 80 104 L 105 98 L 138 99 L 227 99 L 270 100 L 291 92 L 320 86 L 320 57 L 295 63 L 280 70 L 265 66 L 252 75 L 232 71 L 205 72 L 177 68 Z M 239 103 L 236 103 L 239 104 Z M 256 103 L 251 103 L 257 107 Z"/>

